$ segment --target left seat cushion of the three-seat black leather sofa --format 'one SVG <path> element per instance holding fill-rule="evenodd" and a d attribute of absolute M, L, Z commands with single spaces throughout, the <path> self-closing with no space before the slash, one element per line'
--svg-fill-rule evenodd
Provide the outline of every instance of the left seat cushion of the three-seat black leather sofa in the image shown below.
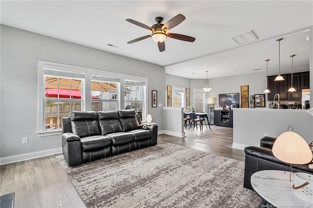
<path fill-rule="evenodd" d="M 89 136 L 80 140 L 82 144 L 82 151 L 95 151 L 97 149 L 104 149 L 111 146 L 111 138 L 108 136 Z"/>

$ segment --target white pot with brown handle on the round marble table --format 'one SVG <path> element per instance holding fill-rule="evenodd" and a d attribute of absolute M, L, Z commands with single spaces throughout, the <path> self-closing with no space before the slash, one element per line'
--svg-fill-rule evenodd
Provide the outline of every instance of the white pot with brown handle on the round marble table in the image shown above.
<path fill-rule="evenodd" d="M 313 175 L 308 173 L 294 173 L 294 194 L 300 199 L 313 202 Z"/>

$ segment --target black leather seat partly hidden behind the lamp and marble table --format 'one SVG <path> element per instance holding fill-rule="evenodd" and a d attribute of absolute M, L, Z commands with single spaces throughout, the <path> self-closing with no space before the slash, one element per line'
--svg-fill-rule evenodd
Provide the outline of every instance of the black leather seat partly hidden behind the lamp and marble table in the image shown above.
<path fill-rule="evenodd" d="M 260 170 L 286 170 L 290 171 L 290 166 L 286 163 L 278 160 L 272 153 L 272 147 L 276 138 L 263 137 L 261 139 L 260 147 L 247 146 L 245 148 L 246 160 L 245 160 L 245 177 L 244 187 L 251 190 L 250 177 L 253 173 Z M 293 172 L 306 172 L 313 174 L 313 169 L 308 165 L 292 165 Z"/>

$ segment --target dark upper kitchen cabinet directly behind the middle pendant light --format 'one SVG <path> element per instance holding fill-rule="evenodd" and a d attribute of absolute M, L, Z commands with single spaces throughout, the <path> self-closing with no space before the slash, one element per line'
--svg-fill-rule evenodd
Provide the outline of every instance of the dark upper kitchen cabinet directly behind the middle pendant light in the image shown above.
<path fill-rule="evenodd" d="M 287 75 L 282 75 L 283 81 L 274 81 L 276 76 L 268 76 L 268 101 L 272 101 L 276 94 L 279 94 L 280 100 L 287 100 Z"/>

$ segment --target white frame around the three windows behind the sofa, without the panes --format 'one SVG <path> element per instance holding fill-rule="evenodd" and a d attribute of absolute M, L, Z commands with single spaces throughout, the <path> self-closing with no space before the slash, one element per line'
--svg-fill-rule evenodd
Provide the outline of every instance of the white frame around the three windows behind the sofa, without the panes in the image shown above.
<path fill-rule="evenodd" d="M 124 101 L 124 83 L 126 80 L 134 80 L 138 82 L 145 82 L 145 92 L 144 92 L 144 112 L 143 117 L 145 118 L 148 114 L 148 78 L 145 77 L 138 77 L 133 75 L 127 74 L 119 74 L 114 72 L 109 72 L 107 70 L 97 70 L 97 69 L 90 69 L 86 67 L 80 66 L 73 66 L 68 64 L 62 63 L 55 63 L 55 62 L 47 62 L 38 60 L 38 132 L 37 135 L 39 137 L 45 136 L 52 136 L 52 135 L 61 135 L 62 129 L 56 130 L 49 130 L 46 131 L 44 129 L 44 116 L 45 116 L 45 105 L 44 105 L 44 98 L 45 98 L 45 80 L 44 80 L 44 68 L 51 68 L 55 70 L 61 71 L 71 71 L 76 73 L 84 73 L 85 74 L 85 83 L 84 87 L 82 87 L 82 110 L 88 111 L 91 110 L 91 75 L 99 75 L 99 76 L 106 76 L 106 77 L 115 77 L 120 80 L 119 87 L 117 89 L 117 99 L 118 99 L 118 109 L 125 109 L 125 101 Z M 84 99 L 83 99 L 84 96 Z M 89 99 L 86 99 L 89 98 Z"/>

